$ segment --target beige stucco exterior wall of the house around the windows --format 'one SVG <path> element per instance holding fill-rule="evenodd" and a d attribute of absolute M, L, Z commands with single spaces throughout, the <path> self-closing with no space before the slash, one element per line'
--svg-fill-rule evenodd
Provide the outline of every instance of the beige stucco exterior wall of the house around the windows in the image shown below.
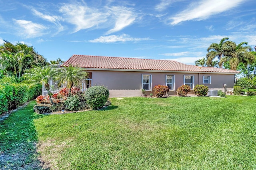
<path fill-rule="evenodd" d="M 234 74 L 202 74 L 202 73 L 180 73 L 180 72 L 136 72 L 136 71 L 106 71 L 87 70 L 92 73 L 92 85 L 105 86 L 110 91 L 110 97 L 131 97 L 141 96 L 142 74 L 152 75 L 151 91 L 153 87 L 160 84 L 166 85 L 166 75 L 174 75 L 174 90 L 169 95 L 176 95 L 176 89 L 184 84 L 184 75 L 194 76 L 194 85 L 203 84 L 203 76 L 211 76 L 211 84 L 204 84 L 210 90 L 222 90 L 224 84 L 231 89 L 234 86 Z"/>

